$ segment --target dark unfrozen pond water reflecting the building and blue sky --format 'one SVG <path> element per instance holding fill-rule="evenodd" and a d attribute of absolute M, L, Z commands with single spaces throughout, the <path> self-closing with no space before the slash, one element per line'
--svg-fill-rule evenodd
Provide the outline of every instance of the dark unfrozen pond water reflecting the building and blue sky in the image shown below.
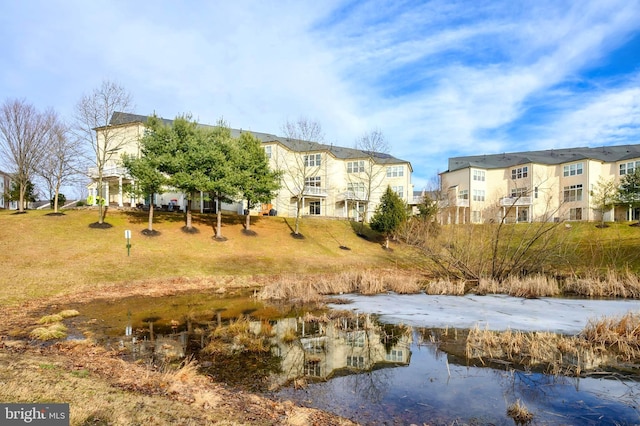
<path fill-rule="evenodd" d="M 535 424 L 640 424 L 640 384 L 628 377 L 474 366 L 465 358 L 468 330 L 247 303 L 251 311 L 216 301 L 167 313 L 134 301 L 128 313 L 84 320 L 130 359 L 195 357 L 217 381 L 361 424 L 513 424 L 506 413 L 516 400 L 534 413 Z"/>

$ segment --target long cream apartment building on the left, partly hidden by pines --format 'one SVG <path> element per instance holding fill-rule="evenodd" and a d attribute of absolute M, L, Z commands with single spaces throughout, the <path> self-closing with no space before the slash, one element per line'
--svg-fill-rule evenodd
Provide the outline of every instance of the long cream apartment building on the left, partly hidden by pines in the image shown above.
<path fill-rule="evenodd" d="M 115 113 L 107 128 L 96 129 L 111 132 L 117 141 L 117 152 L 103 170 L 103 188 L 98 196 L 97 169 L 90 168 L 89 202 L 96 204 L 104 198 L 109 205 L 126 207 L 149 200 L 131 198 L 124 189 L 133 183 L 122 167 L 122 154 L 139 155 L 140 138 L 144 135 L 148 117 L 136 114 Z M 163 120 L 170 125 L 171 120 Z M 208 126 L 208 125 L 202 125 Z M 246 130 L 231 129 L 237 137 Z M 271 167 L 282 172 L 281 188 L 270 202 L 257 207 L 254 214 L 295 216 L 298 206 L 307 216 L 328 216 L 361 220 L 365 212 L 371 218 L 380 197 L 390 186 L 407 203 L 413 202 L 411 163 L 386 153 L 365 152 L 314 141 L 289 139 L 267 133 L 251 132 L 258 138 L 269 158 Z M 186 197 L 177 192 L 159 194 L 153 200 L 157 206 L 184 206 Z M 192 200 L 194 210 L 215 210 L 206 194 Z M 241 213 L 242 200 L 223 204 L 223 210 Z"/>

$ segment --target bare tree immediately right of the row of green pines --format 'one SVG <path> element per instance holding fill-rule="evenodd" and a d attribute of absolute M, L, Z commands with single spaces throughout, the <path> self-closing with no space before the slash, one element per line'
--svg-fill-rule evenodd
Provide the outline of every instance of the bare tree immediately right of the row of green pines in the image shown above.
<path fill-rule="evenodd" d="M 291 155 L 279 160 L 277 167 L 283 174 L 283 184 L 296 200 L 296 221 L 294 235 L 300 235 L 300 221 L 304 208 L 305 196 L 314 190 L 314 185 L 320 182 L 322 170 L 322 153 L 318 147 L 310 142 L 322 142 L 324 132 L 317 121 L 301 117 L 297 121 L 287 121 L 282 126 L 282 132 L 288 139 Z M 326 159 L 324 160 L 326 161 Z"/>

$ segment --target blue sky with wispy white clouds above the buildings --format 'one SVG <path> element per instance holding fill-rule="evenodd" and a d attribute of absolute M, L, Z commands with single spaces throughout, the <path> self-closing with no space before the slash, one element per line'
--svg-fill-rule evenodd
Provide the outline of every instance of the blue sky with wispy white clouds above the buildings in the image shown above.
<path fill-rule="evenodd" d="M 640 143 L 640 1 L 0 0 L 0 101 L 282 134 L 381 130 L 421 189 L 449 157 Z"/>

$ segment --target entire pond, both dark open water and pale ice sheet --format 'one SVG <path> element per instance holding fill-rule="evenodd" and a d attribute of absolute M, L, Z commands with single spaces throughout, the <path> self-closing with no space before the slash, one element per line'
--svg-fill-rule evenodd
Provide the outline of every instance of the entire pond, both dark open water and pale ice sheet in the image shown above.
<path fill-rule="evenodd" d="M 465 357 L 469 329 L 573 334 L 634 301 L 505 296 L 341 296 L 351 303 L 269 304 L 246 295 L 184 294 L 76 306 L 72 326 L 127 359 L 198 359 L 231 387 L 319 408 L 361 424 L 640 424 L 635 373 L 548 375 Z M 346 310 L 346 311 L 345 311 Z M 91 313 L 87 316 L 86 313 Z"/>

